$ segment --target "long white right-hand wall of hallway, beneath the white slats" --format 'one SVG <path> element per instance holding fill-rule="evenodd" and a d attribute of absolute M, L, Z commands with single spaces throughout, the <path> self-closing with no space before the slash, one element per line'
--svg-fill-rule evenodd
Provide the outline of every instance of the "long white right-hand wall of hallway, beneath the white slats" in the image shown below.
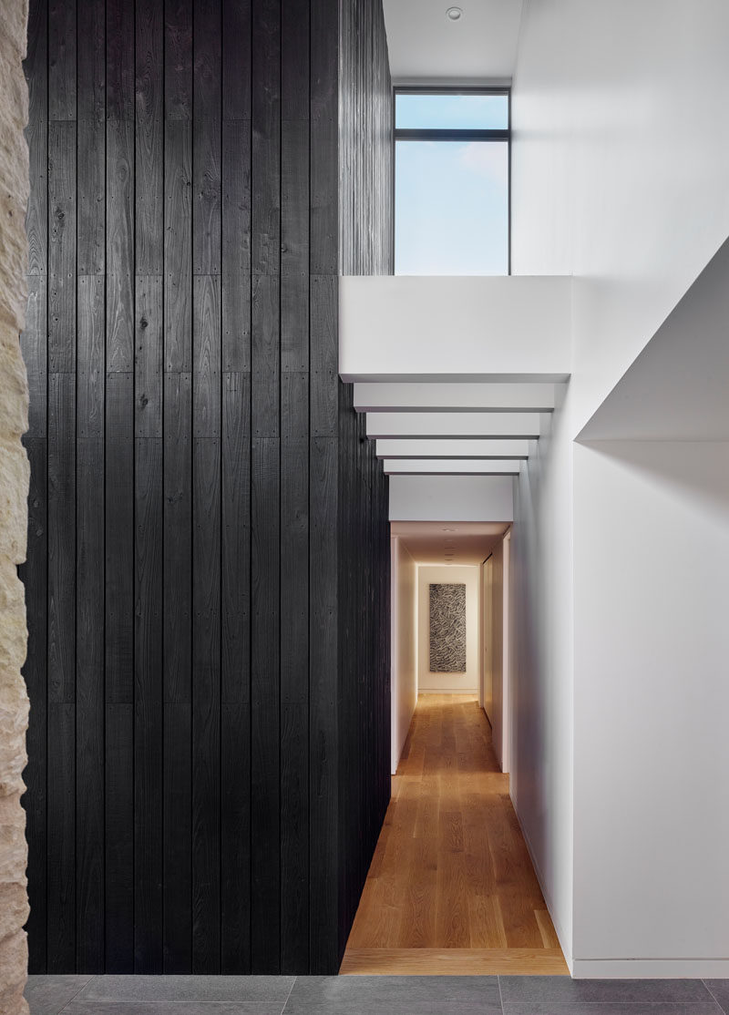
<path fill-rule="evenodd" d="M 573 949 L 573 452 L 569 398 L 515 481 L 511 793 L 568 960 Z"/>

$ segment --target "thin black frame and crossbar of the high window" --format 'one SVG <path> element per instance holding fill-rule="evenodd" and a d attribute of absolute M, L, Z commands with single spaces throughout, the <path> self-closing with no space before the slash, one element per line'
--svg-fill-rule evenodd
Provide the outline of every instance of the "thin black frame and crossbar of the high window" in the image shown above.
<path fill-rule="evenodd" d="M 507 126 L 500 129 L 448 127 L 397 127 L 398 95 L 506 95 Z M 437 87 L 435 85 L 395 85 L 392 89 L 392 265 L 395 271 L 395 175 L 397 173 L 398 141 L 506 141 L 507 142 L 507 274 L 512 273 L 512 89 L 508 85 L 492 87 Z"/>

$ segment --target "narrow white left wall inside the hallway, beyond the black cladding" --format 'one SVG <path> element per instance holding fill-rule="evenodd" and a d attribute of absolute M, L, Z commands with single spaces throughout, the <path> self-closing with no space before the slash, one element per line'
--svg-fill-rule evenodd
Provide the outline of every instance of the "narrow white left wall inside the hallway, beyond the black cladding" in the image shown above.
<path fill-rule="evenodd" d="M 391 706 L 392 772 L 397 771 L 400 755 L 410 729 L 417 702 L 417 564 L 399 536 L 390 540 L 391 568 Z"/>

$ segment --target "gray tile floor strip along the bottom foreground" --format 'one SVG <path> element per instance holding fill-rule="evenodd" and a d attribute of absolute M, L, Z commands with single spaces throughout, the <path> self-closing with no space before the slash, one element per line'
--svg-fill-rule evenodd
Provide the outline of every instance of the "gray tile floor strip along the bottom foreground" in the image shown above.
<path fill-rule="evenodd" d="M 729 1015 L 729 979 L 30 976 L 31 1015 Z"/>

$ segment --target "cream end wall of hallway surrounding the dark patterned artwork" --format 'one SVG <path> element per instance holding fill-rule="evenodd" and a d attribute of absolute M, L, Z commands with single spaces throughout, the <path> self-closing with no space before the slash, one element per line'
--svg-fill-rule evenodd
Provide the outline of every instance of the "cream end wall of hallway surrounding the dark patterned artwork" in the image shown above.
<path fill-rule="evenodd" d="M 477 693 L 480 683 L 479 661 L 479 588 L 477 564 L 446 566 L 418 564 L 417 567 L 417 687 L 419 691 Z M 429 591 L 430 583 L 466 586 L 466 672 L 430 673 Z"/>

